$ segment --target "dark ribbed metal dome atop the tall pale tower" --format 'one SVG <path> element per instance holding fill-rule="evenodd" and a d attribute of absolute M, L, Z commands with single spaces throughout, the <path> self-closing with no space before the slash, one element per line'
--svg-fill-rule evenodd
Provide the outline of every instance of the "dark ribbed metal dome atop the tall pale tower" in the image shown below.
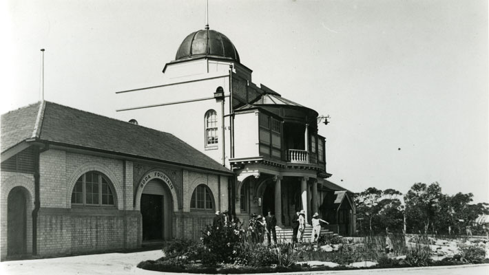
<path fill-rule="evenodd" d="M 215 30 L 198 30 L 189 34 L 178 47 L 175 60 L 200 56 L 226 58 L 240 62 L 240 56 L 233 43 L 224 34 Z"/>

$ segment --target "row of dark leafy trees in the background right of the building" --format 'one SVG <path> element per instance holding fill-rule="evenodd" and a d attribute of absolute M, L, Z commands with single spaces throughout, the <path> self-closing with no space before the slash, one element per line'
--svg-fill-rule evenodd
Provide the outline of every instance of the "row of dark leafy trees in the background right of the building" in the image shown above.
<path fill-rule="evenodd" d="M 393 190 L 367 188 L 355 195 L 357 229 L 368 232 L 430 234 L 487 234 L 475 219 L 489 214 L 488 203 L 472 203 L 472 193 L 446 195 L 437 182 L 417 183 L 404 195 Z"/>

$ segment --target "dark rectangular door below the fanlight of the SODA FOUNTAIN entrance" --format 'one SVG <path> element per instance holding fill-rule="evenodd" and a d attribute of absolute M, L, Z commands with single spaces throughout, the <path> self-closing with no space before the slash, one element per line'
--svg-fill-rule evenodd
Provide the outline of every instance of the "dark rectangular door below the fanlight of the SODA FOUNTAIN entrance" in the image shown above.
<path fill-rule="evenodd" d="M 163 196 L 141 195 L 143 241 L 163 240 Z"/>

